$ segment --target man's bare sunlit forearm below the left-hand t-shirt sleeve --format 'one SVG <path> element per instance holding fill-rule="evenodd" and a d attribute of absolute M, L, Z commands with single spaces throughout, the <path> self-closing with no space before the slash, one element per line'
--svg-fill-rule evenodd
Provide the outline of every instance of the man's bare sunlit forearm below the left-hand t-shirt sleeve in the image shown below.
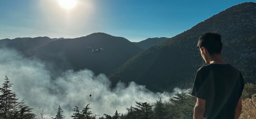
<path fill-rule="evenodd" d="M 196 98 L 196 104 L 194 108 L 194 119 L 203 119 L 205 111 L 205 100 Z"/>

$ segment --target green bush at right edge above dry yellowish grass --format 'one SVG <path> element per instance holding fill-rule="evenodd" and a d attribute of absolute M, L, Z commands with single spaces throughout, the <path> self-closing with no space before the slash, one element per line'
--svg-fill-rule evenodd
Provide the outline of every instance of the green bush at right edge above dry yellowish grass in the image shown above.
<path fill-rule="evenodd" d="M 252 83 L 246 83 L 242 92 L 242 99 L 252 98 L 252 95 L 256 93 L 256 85 Z"/>

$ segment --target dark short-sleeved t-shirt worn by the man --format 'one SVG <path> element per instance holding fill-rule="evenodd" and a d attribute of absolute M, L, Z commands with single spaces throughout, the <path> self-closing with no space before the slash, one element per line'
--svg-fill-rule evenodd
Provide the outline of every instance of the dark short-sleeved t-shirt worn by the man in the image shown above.
<path fill-rule="evenodd" d="M 191 95 L 206 100 L 204 117 L 234 119 L 244 89 L 241 72 L 231 64 L 209 64 L 197 70 Z"/>

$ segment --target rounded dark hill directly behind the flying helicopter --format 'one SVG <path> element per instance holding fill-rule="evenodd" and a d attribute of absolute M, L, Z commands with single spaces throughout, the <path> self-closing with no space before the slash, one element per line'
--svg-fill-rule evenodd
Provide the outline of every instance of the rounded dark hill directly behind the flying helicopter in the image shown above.
<path fill-rule="evenodd" d="M 92 49 L 87 47 L 100 47 L 103 50 L 100 53 L 93 53 Z M 140 52 L 142 49 L 123 37 L 98 32 L 74 39 L 53 39 L 23 54 L 38 57 L 46 63 L 52 73 L 87 68 L 95 74 L 109 75 L 115 68 Z"/>

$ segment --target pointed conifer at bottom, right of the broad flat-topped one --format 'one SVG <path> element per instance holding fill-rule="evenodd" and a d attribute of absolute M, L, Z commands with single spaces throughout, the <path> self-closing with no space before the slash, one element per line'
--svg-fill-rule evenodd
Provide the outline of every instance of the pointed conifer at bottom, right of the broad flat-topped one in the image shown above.
<path fill-rule="evenodd" d="M 165 111 L 164 103 L 162 98 L 160 97 L 159 101 L 156 100 L 154 113 L 156 119 L 165 119 L 167 112 Z"/>

